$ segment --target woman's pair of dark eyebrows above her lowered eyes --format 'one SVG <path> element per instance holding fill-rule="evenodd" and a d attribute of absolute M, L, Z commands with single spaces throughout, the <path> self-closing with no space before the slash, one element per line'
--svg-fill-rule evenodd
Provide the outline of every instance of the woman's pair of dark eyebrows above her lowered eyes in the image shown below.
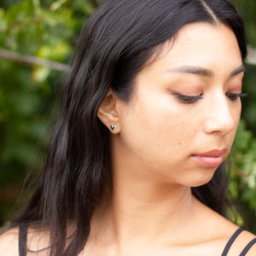
<path fill-rule="evenodd" d="M 245 72 L 246 67 L 244 65 L 241 65 L 240 67 L 237 67 L 235 70 L 233 70 L 230 73 L 230 77 L 234 77 L 239 73 Z M 173 67 L 171 69 L 166 70 L 167 73 L 192 73 L 204 77 L 210 77 L 212 78 L 214 76 L 214 72 L 207 68 L 202 67 L 195 67 L 195 66 L 181 66 L 181 67 Z"/>

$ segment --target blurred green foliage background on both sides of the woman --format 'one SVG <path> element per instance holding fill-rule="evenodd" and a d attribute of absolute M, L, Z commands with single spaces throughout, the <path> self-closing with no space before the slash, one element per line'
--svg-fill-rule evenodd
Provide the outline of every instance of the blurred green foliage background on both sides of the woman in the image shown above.
<path fill-rule="evenodd" d="M 0 226 L 29 194 L 20 189 L 27 172 L 38 172 L 55 119 L 55 95 L 65 66 L 31 64 L 24 55 L 68 64 L 84 21 L 100 1 L 1 0 L 0 3 Z M 233 1 L 245 20 L 248 45 L 256 49 L 256 1 Z M 8 49 L 22 56 L 10 60 Z M 1 54 L 7 54 L 9 57 Z M 50 67 L 49 67 L 50 66 Z M 62 70 L 62 71 L 61 71 Z M 256 233 L 256 66 L 247 64 L 242 120 L 230 154 L 230 198 L 236 222 Z M 30 179 L 30 178 L 28 178 Z M 15 207 L 14 207 L 15 206 Z M 243 216 L 243 217 L 242 217 Z M 230 218 L 232 219 L 231 215 Z M 235 221 L 235 219 L 232 219 Z"/>

